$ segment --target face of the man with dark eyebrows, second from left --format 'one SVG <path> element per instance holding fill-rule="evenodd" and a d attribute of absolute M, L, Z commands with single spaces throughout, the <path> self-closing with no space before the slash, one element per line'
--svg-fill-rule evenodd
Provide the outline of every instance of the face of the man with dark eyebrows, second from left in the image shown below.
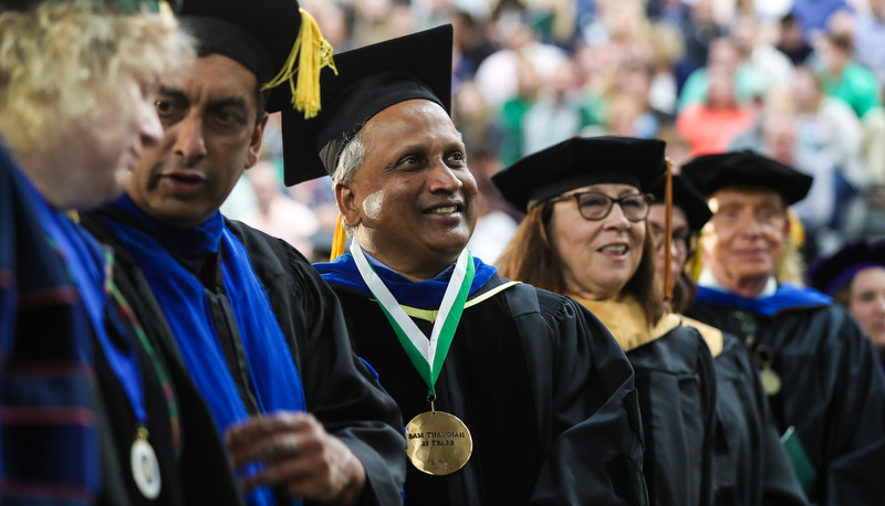
<path fill-rule="evenodd" d="M 154 219 L 175 226 L 206 221 L 227 199 L 242 171 L 258 160 L 264 117 L 256 76 L 220 54 L 160 80 L 155 102 L 164 128 L 144 150 L 127 191 Z"/>

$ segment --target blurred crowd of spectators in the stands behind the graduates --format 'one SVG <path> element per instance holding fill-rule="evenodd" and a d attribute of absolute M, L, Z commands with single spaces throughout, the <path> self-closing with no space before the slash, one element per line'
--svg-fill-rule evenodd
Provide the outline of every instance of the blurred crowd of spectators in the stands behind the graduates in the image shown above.
<path fill-rule="evenodd" d="M 452 23 L 452 115 L 480 189 L 470 247 L 493 261 L 520 215 L 489 181 L 575 135 L 660 138 L 676 171 L 751 148 L 814 176 L 794 208 L 810 262 L 885 234 L 885 0 L 309 0 L 336 52 Z M 323 260 L 327 178 L 264 161 L 222 211 Z"/>

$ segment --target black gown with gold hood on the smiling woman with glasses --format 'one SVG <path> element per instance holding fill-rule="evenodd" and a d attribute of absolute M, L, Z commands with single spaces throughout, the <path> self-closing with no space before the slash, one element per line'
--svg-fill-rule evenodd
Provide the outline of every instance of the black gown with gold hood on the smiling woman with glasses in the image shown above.
<path fill-rule="evenodd" d="M 700 334 L 665 315 L 652 329 L 633 298 L 576 298 L 612 331 L 636 371 L 645 478 L 654 505 L 711 505 L 716 378 Z"/>

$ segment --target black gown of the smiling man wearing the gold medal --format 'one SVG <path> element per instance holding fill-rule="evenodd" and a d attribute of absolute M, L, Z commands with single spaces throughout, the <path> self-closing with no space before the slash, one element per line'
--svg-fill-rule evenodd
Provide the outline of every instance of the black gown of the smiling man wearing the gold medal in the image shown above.
<path fill-rule="evenodd" d="M 472 456 L 447 476 L 409 464 L 405 503 L 647 504 L 638 405 L 623 351 L 566 297 L 516 285 L 485 298 L 506 283 L 496 275 L 470 296 L 436 383 L 435 408 L 465 422 Z M 378 371 L 404 420 L 428 411 L 427 386 L 381 306 L 368 293 L 333 288 L 354 349 Z M 430 321 L 413 320 L 430 335 Z"/>

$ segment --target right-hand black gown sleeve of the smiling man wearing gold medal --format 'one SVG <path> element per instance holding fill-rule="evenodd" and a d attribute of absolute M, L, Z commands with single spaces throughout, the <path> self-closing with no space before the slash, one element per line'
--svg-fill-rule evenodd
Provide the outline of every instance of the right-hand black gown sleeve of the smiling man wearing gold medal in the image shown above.
<path fill-rule="evenodd" d="M 531 504 L 647 505 L 642 422 L 624 351 L 568 297 L 527 285 L 506 293 L 539 407 L 540 440 L 550 441 Z"/>

